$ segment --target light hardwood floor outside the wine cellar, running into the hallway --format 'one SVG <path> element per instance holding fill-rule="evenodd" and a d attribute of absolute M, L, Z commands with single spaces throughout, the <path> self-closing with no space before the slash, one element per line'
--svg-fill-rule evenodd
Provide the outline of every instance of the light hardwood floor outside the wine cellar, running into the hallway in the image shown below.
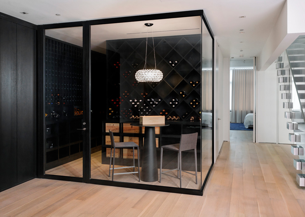
<path fill-rule="evenodd" d="M 203 196 L 33 179 L 0 192 L 0 216 L 305 216 L 294 157 L 231 131 Z"/>

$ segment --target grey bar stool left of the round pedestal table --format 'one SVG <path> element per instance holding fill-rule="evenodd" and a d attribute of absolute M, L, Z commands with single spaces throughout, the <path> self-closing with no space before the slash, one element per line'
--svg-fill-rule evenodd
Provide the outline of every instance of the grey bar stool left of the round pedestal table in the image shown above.
<path fill-rule="evenodd" d="M 112 170 L 112 181 L 113 181 L 113 175 L 116 174 L 135 174 L 137 173 L 139 176 L 139 182 L 140 182 L 140 160 L 139 160 L 139 146 L 134 142 L 114 142 L 113 138 L 113 132 L 109 130 L 110 134 L 110 140 L 111 140 L 111 151 L 110 151 L 110 163 L 109 163 L 109 177 L 110 177 L 110 171 Z M 114 168 L 114 162 L 115 162 L 115 153 L 116 148 L 132 148 L 133 152 L 133 166 L 124 166 L 124 167 L 116 167 Z M 135 171 L 135 148 L 138 150 L 138 171 Z M 112 149 L 113 149 L 113 163 L 111 168 L 111 161 L 112 161 Z M 133 172 L 125 172 L 125 173 L 114 173 L 115 169 L 124 169 L 124 168 L 133 168 Z"/>

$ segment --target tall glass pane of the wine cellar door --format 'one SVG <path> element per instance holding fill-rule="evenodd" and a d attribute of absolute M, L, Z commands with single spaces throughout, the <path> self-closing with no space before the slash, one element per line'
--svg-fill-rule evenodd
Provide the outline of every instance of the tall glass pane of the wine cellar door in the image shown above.
<path fill-rule="evenodd" d="M 45 174 L 83 176 L 83 27 L 45 31 Z"/>

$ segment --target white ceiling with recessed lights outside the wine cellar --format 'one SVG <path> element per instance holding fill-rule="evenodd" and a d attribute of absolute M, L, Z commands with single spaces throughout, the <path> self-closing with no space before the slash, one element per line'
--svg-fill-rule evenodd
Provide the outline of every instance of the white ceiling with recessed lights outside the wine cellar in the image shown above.
<path fill-rule="evenodd" d="M 34 24 L 48 24 L 202 9 L 223 56 L 247 60 L 259 56 L 284 2 L 285 0 L 0 0 L 0 12 Z M 246 18 L 239 18 L 240 16 Z M 245 33 L 240 34 L 240 29 L 244 29 Z M 240 54 L 244 57 L 240 58 Z"/>

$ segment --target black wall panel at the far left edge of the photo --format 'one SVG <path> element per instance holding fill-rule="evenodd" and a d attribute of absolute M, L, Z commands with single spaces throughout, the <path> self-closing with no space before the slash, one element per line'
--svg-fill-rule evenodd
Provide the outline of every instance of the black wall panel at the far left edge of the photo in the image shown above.
<path fill-rule="evenodd" d="M 16 24 L 0 19 L 0 189 L 17 182 Z"/>

